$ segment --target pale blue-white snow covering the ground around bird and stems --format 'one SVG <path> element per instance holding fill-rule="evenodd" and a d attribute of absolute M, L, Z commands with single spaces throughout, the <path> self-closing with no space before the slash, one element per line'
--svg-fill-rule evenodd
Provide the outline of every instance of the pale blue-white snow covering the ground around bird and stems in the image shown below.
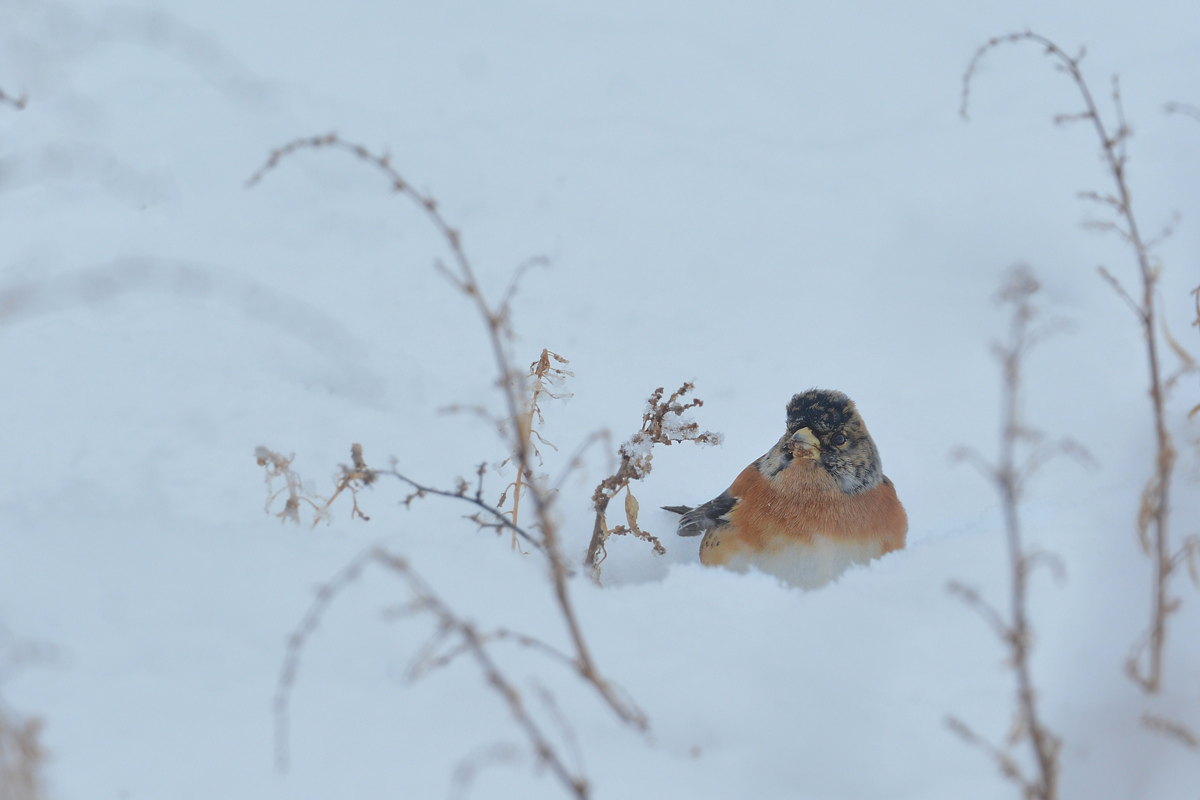
<path fill-rule="evenodd" d="M 0 89 L 29 96 L 0 107 L 0 621 L 55 654 L 0 690 L 46 720 L 50 796 L 445 796 L 498 742 L 520 754 L 472 796 L 563 795 L 474 664 L 404 680 L 431 624 L 380 616 L 404 600 L 382 571 L 310 642 L 275 770 L 287 636 L 372 543 L 480 627 L 566 643 L 544 563 L 454 503 L 406 510 L 382 483 L 366 523 L 347 504 L 316 530 L 263 512 L 258 445 L 326 494 L 354 441 L 439 486 L 504 456 L 485 421 L 442 413 L 499 397 L 427 221 L 344 154 L 245 187 L 272 148 L 328 131 L 434 194 L 488 291 L 551 259 L 515 301 L 521 360 L 548 347 L 575 372 L 545 408 L 547 473 L 594 431 L 625 440 L 660 385 L 695 380 L 696 420 L 725 434 L 656 450 L 635 489 L 667 555 L 616 541 L 604 588 L 571 584 L 648 735 L 559 664 L 494 646 L 558 735 L 535 684 L 553 692 L 596 798 L 1016 796 L 944 718 L 992 741 L 1012 718 L 1004 650 L 946 585 L 1007 603 L 995 494 L 949 453 L 994 452 L 991 297 L 1019 260 L 1070 325 L 1027 365 L 1028 420 L 1097 461 L 1050 465 L 1024 510 L 1066 564 L 1031 596 L 1063 796 L 1195 796 L 1200 753 L 1139 724 L 1200 727 L 1186 576 L 1163 694 L 1122 674 L 1150 614 L 1151 416 L 1139 330 L 1094 270 L 1133 282 L 1133 260 L 1079 224 L 1100 212 L 1075 192 L 1108 190 L 1094 138 L 1051 125 L 1078 97 L 1033 47 L 989 55 L 958 115 L 976 47 L 1026 26 L 1086 44 L 1105 101 L 1120 72 L 1142 224 L 1181 216 L 1162 290 L 1195 353 L 1200 125 L 1162 110 L 1200 102 L 1195 2 L 0 2 Z M 908 548 L 809 594 L 701 567 L 652 510 L 724 489 L 811 386 L 856 399 Z M 1193 375 L 1171 403 L 1176 541 L 1200 533 L 1198 396 Z M 607 467 L 592 450 L 559 494 L 572 554 Z"/>

